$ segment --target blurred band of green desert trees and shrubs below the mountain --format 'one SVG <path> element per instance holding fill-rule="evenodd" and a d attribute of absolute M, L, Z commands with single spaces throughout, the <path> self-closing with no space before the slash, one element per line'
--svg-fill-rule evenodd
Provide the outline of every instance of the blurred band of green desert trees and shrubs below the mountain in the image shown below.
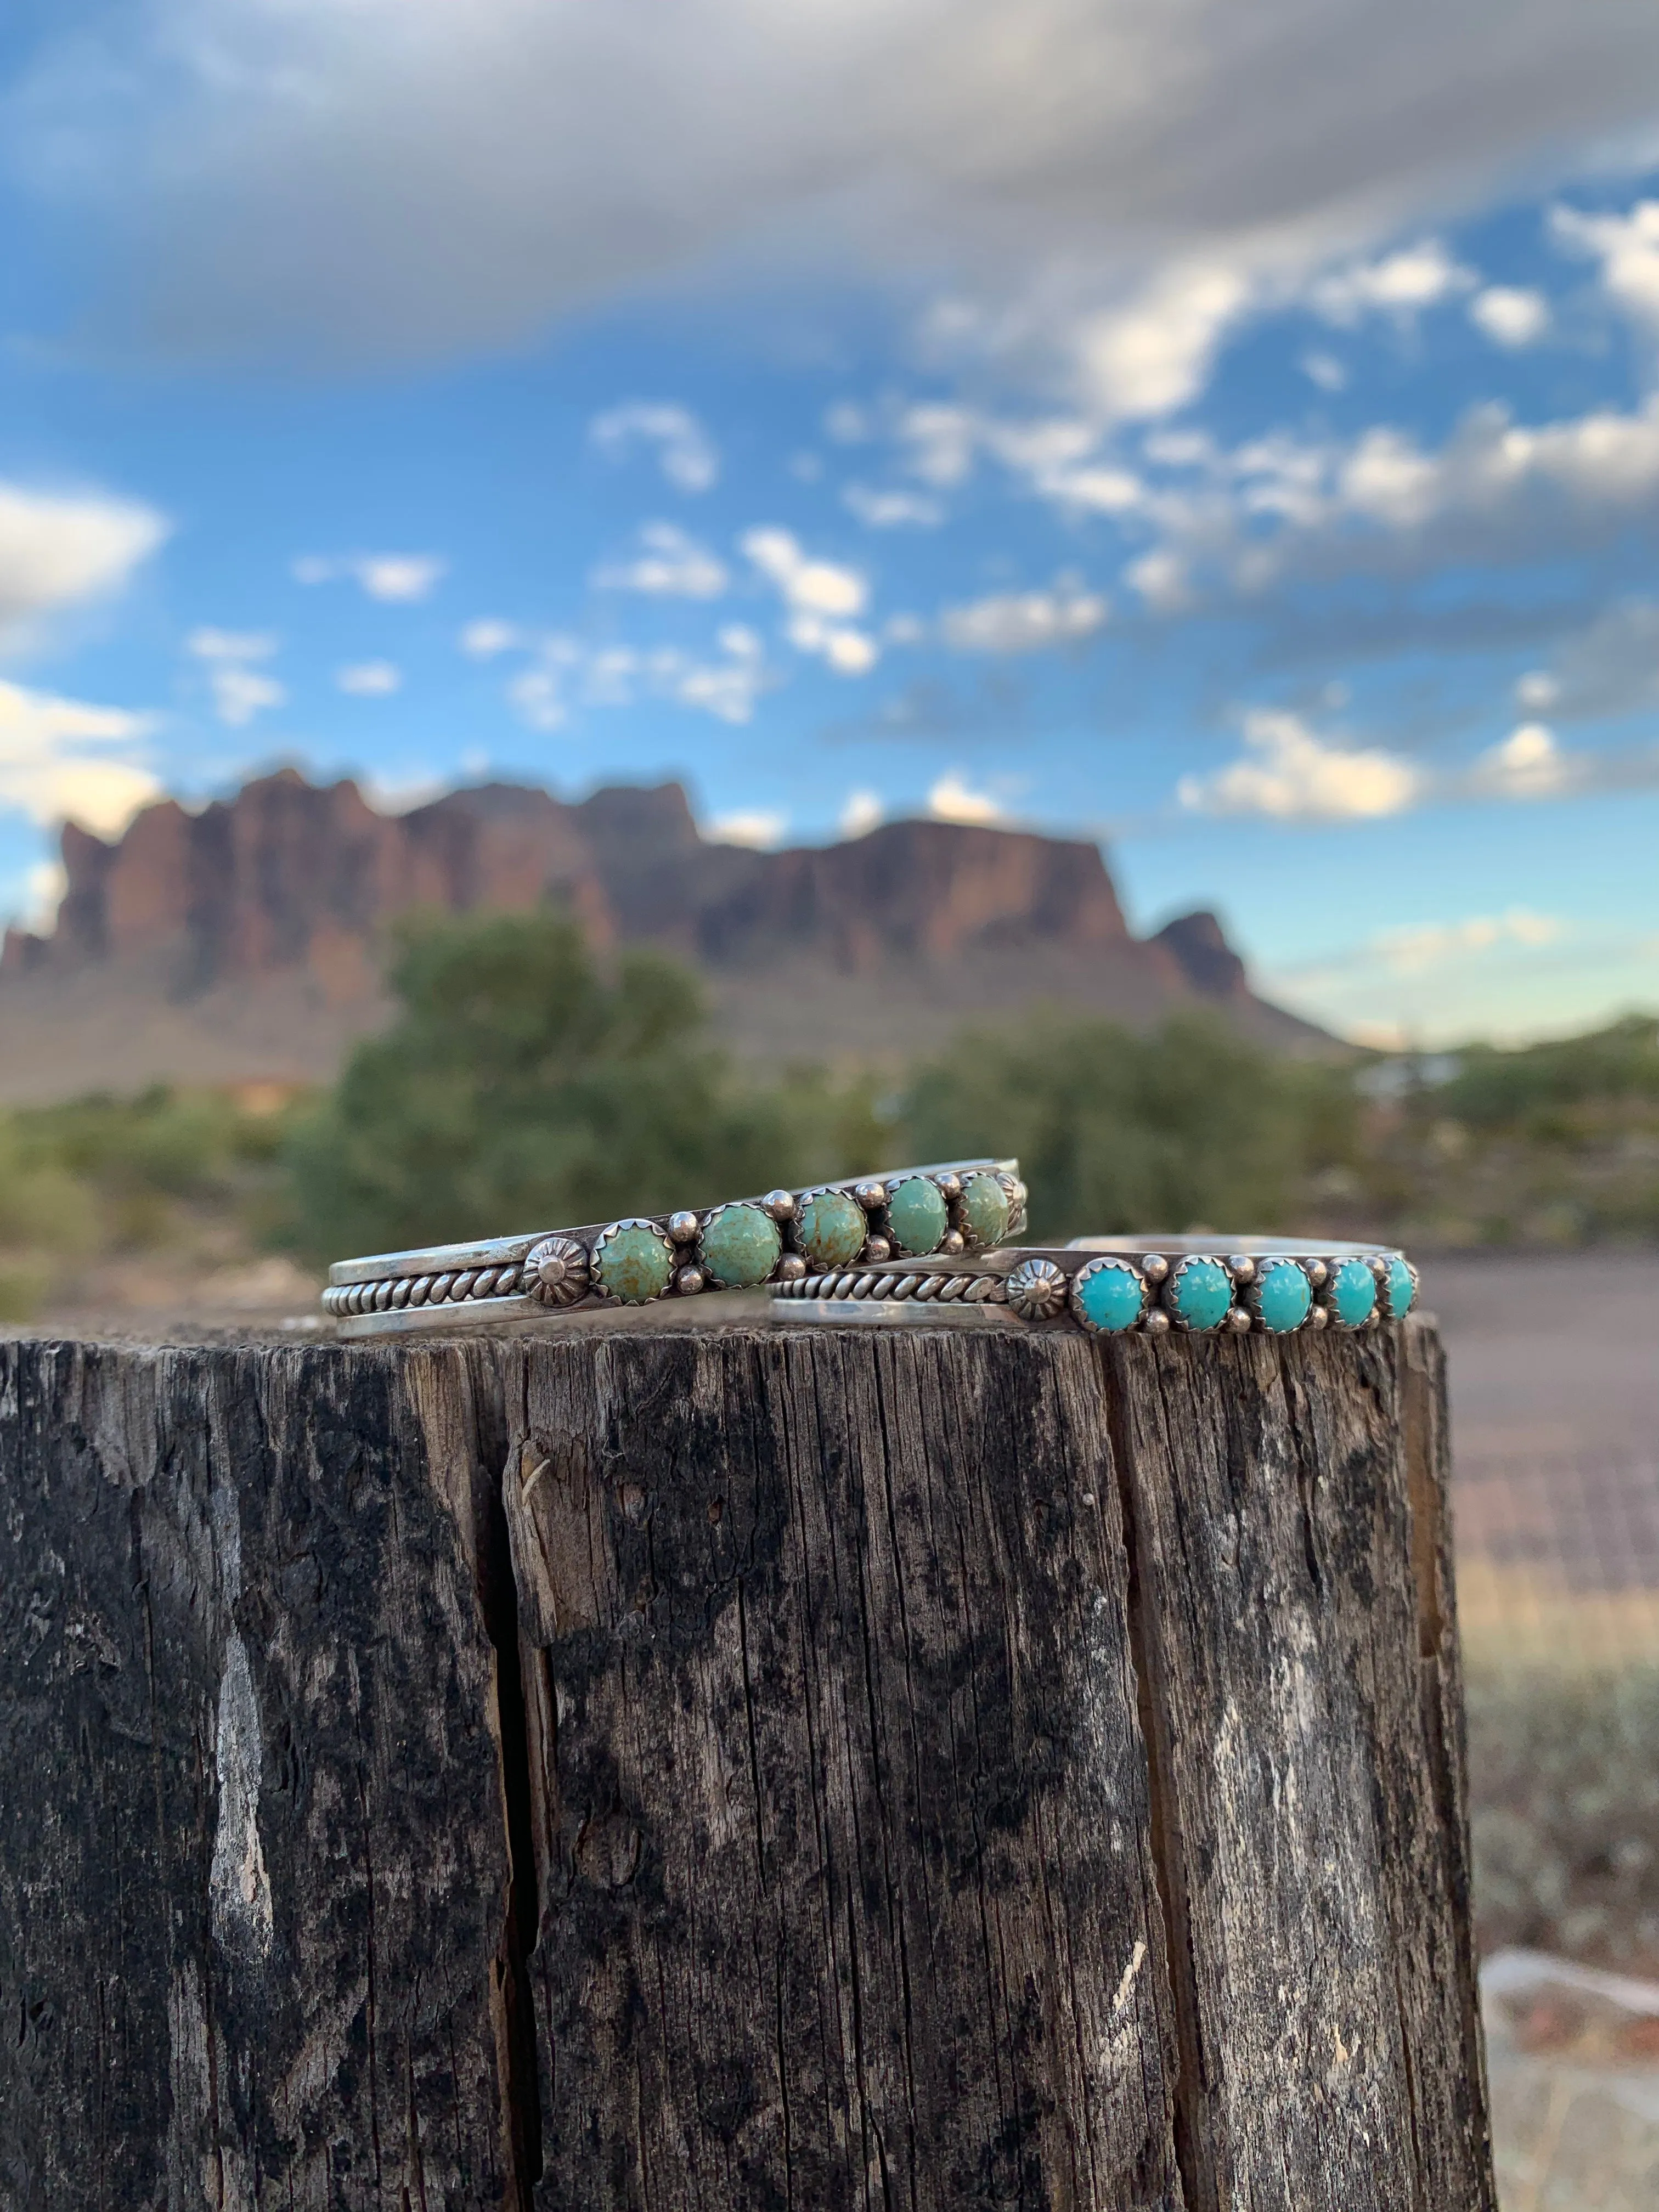
<path fill-rule="evenodd" d="M 1033 1237 L 1199 1223 L 1409 1245 L 1659 1237 L 1659 1022 L 1524 1051 L 1283 1060 L 1223 1022 L 1037 1013 L 876 1077 L 734 1066 L 695 978 L 555 916 L 405 940 L 332 1091 L 0 1113 L 0 1318 L 210 1267 L 604 1221 L 883 1161 L 1018 1152 Z M 299 1296 L 299 1290 L 283 1292 Z M 173 1298 L 175 1292 L 168 1292 Z M 119 1296 L 115 1303 L 122 1303 Z"/>

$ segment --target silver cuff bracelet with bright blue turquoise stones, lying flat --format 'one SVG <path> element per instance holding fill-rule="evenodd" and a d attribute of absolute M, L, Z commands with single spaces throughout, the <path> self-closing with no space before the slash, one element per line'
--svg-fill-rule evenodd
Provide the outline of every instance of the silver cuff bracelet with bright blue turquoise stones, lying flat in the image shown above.
<path fill-rule="evenodd" d="M 1369 1329 L 1402 1321 L 1418 1272 L 1387 1245 L 1276 1237 L 1079 1237 L 964 1261 L 843 1267 L 772 1285 L 774 1321 L 1079 1327 L 1093 1336 Z"/>

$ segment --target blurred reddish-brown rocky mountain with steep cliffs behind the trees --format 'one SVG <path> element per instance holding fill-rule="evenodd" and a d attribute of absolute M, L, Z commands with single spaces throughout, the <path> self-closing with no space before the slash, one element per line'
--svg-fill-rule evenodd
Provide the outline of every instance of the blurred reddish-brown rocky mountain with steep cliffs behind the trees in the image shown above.
<path fill-rule="evenodd" d="M 706 843 L 677 783 L 378 814 L 283 770 L 199 814 L 146 807 L 113 845 L 71 823 L 64 874 L 53 933 L 7 933 L 2 1097 L 323 1077 L 385 1018 L 392 922 L 546 900 L 599 949 L 697 964 L 748 1055 L 902 1060 L 1044 1000 L 1137 1024 L 1214 1004 L 1263 1042 L 1321 1040 L 1254 998 L 1212 914 L 1133 938 L 1095 845 L 907 821 L 750 852 Z"/>

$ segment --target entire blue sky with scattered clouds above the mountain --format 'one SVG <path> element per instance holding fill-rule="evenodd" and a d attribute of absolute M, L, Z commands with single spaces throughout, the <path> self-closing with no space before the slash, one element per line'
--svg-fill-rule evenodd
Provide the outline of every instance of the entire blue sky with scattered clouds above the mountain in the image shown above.
<path fill-rule="evenodd" d="M 1099 836 L 1374 1040 L 1659 1006 L 1659 13 L 0 33 L 0 907 L 296 761 Z"/>

